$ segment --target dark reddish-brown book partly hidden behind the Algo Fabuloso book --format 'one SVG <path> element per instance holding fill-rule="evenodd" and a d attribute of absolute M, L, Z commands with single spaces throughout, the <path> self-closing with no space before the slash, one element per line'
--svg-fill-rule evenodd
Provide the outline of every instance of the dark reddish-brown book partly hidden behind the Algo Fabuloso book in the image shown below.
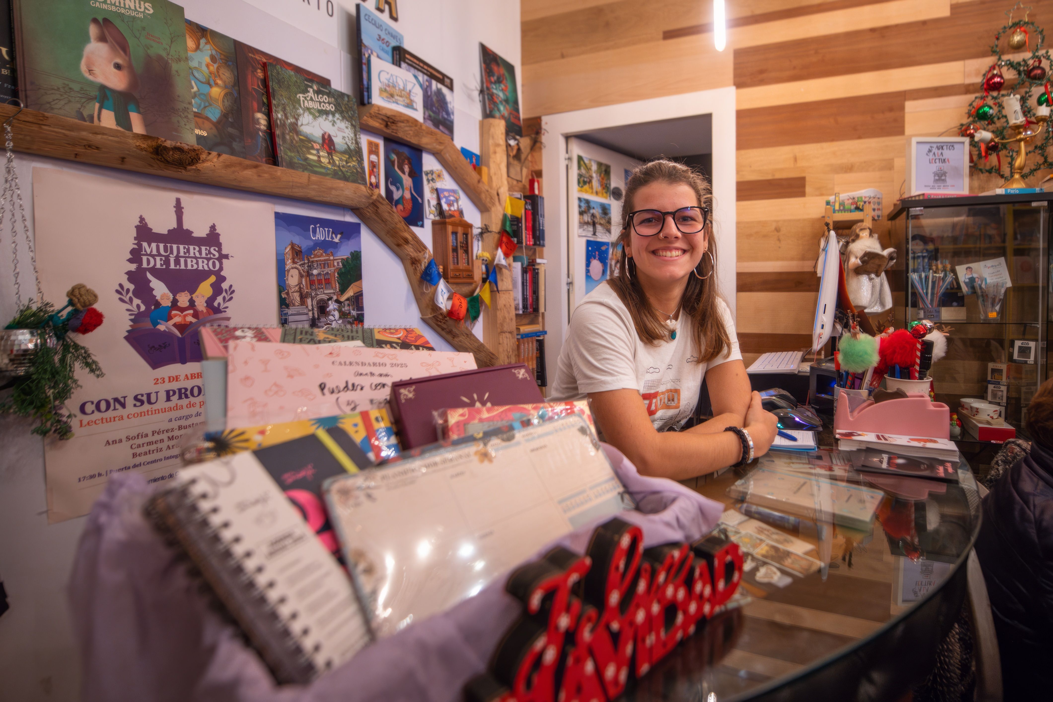
<path fill-rule="evenodd" d="M 266 64 L 281 66 L 322 85 L 329 85 L 330 80 L 237 40 L 234 42 L 234 52 L 238 59 L 238 97 L 241 100 L 245 158 L 275 165 Z"/>

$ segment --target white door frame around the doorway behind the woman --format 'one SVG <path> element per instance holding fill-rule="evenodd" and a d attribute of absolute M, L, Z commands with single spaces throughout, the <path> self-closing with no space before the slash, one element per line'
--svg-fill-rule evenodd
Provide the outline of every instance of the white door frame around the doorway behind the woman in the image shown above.
<path fill-rule="evenodd" d="M 732 315 L 735 315 L 735 88 L 684 93 L 541 118 L 544 135 L 544 216 L 549 227 L 549 245 L 544 255 L 551 272 L 544 294 L 547 299 L 553 301 L 549 303 L 544 317 L 549 332 L 545 352 L 550 368 L 556 367 L 571 313 L 565 287 L 569 264 L 568 178 L 576 172 L 568 166 L 564 159 L 568 139 L 611 126 L 707 114 L 713 115 L 713 223 L 719 246 L 717 282 Z M 556 301 L 561 304 L 556 304 Z"/>

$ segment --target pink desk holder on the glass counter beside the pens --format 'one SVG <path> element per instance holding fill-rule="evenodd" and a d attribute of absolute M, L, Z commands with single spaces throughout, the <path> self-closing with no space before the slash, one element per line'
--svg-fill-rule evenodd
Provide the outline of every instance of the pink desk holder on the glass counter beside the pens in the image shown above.
<path fill-rule="evenodd" d="M 874 402 L 866 400 L 850 407 L 845 388 L 838 392 L 834 429 L 851 429 L 871 434 L 895 434 L 930 439 L 951 438 L 951 408 L 933 402 L 927 394 L 909 393 L 906 398 Z"/>

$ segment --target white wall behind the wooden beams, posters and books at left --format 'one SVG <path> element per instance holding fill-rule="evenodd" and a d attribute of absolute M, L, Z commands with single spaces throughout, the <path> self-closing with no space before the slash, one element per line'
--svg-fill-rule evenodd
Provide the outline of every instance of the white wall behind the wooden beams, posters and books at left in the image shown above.
<path fill-rule="evenodd" d="M 355 2 L 338 0 L 336 28 L 298 23 L 315 32 L 291 26 L 261 7 L 279 13 L 293 0 L 184 0 L 186 17 L 219 32 L 285 58 L 329 77 L 333 85 L 357 94 L 355 56 Z M 324 1 L 322 2 L 324 6 Z M 373 3 L 370 3 L 373 6 Z M 424 60 L 450 74 L 455 81 L 455 142 L 478 152 L 480 107 L 478 100 L 479 42 L 519 65 L 519 2 L 502 0 L 400 0 L 399 21 L 393 23 L 405 45 Z M 322 37 L 321 39 L 319 37 Z M 363 137 L 370 136 L 363 134 Z M 376 138 L 376 137 L 373 137 Z M 221 194 L 241 199 L 266 199 L 279 212 L 358 221 L 347 209 L 281 198 L 264 198 L 236 190 L 198 186 L 182 181 L 84 166 L 66 161 L 17 155 L 22 198 L 33 226 L 32 167 L 34 165 L 98 174 L 177 190 Z M 436 167 L 424 156 L 424 167 Z M 479 222 L 478 210 L 462 199 L 470 221 Z M 61 206 L 61 203 L 56 203 Z M 431 245 L 429 228 L 416 229 Z M 0 236 L 0 319 L 15 310 L 14 287 L 7 252 L 9 225 Z M 71 236 L 76 236 L 71 233 Z M 262 235 L 261 245 L 273 246 L 273 234 Z M 32 289 L 26 257 L 22 256 L 23 295 Z M 398 258 L 366 227 L 362 227 L 362 274 L 365 323 L 419 326 L 436 347 L 450 349 L 424 324 Z M 476 327 L 481 334 L 481 323 Z M 105 359 L 100 359 L 105 364 Z M 44 465 L 41 440 L 20 420 L 0 418 L 0 579 L 7 589 L 11 609 L 0 617 L 0 702 L 17 700 L 78 699 L 79 664 L 66 607 L 65 587 L 77 540 L 86 518 L 47 526 Z"/>

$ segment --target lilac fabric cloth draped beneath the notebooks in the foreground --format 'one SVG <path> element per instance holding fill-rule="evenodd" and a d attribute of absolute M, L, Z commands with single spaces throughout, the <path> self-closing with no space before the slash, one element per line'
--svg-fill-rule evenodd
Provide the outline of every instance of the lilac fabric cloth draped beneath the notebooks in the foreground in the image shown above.
<path fill-rule="evenodd" d="M 692 541 L 716 525 L 720 503 L 675 481 L 642 477 L 616 448 L 603 448 L 639 506 L 620 517 L 642 528 L 645 546 Z M 141 476 L 113 477 L 81 537 L 69 599 L 84 702 L 459 700 L 463 684 L 484 670 L 521 611 L 501 576 L 442 615 L 372 644 L 311 685 L 278 686 L 143 517 L 152 492 Z M 602 521 L 539 555 L 556 544 L 584 553 Z"/>

